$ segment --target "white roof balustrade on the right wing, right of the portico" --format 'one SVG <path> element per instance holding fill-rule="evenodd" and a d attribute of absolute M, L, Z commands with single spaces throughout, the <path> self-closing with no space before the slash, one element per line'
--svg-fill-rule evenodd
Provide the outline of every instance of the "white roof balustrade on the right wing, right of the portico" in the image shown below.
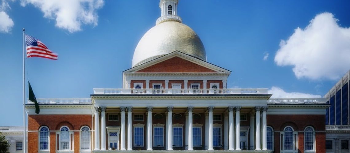
<path fill-rule="evenodd" d="M 326 104 L 325 98 L 270 98 L 267 104 Z"/>

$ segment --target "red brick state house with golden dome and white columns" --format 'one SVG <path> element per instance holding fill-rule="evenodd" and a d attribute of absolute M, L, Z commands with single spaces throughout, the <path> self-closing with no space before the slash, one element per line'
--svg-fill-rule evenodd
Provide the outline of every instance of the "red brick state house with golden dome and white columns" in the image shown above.
<path fill-rule="evenodd" d="M 28 151 L 326 151 L 326 98 L 270 99 L 267 89 L 227 89 L 231 71 L 207 61 L 177 5 L 160 0 L 161 17 L 135 48 L 121 89 L 38 99 L 40 114 L 29 102 Z"/>

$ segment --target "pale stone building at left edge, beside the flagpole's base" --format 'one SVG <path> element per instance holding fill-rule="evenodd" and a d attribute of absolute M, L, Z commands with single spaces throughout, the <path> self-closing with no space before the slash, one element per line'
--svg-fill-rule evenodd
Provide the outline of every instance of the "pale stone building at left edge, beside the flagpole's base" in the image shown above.
<path fill-rule="evenodd" d="M 10 153 L 23 152 L 23 127 L 0 127 L 0 132 L 5 135 L 10 144 Z M 28 144 L 28 141 L 26 141 L 26 144 Z"/>

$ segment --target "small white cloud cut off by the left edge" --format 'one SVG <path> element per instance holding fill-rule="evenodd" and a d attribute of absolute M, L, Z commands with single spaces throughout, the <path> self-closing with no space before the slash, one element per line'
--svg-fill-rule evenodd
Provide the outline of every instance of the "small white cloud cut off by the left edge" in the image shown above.
<path fill-rule="evenodd" d="M 14 25 L 12 19 L 5 12 L 10 9 L 8 2 L 6 0 L 1 0 L 0 5 L 0 32 L 9 33 Z"/>

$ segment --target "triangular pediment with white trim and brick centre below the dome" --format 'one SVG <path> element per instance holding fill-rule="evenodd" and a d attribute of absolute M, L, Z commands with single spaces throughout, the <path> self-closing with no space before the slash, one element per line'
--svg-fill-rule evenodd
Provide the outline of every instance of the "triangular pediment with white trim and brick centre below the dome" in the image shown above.
<path fill-rule="evenodd" d="M 124 72 L 226 72 L 231 71 L 209 62 L 194 58 L 188 54 L 175 51 Z"/>

